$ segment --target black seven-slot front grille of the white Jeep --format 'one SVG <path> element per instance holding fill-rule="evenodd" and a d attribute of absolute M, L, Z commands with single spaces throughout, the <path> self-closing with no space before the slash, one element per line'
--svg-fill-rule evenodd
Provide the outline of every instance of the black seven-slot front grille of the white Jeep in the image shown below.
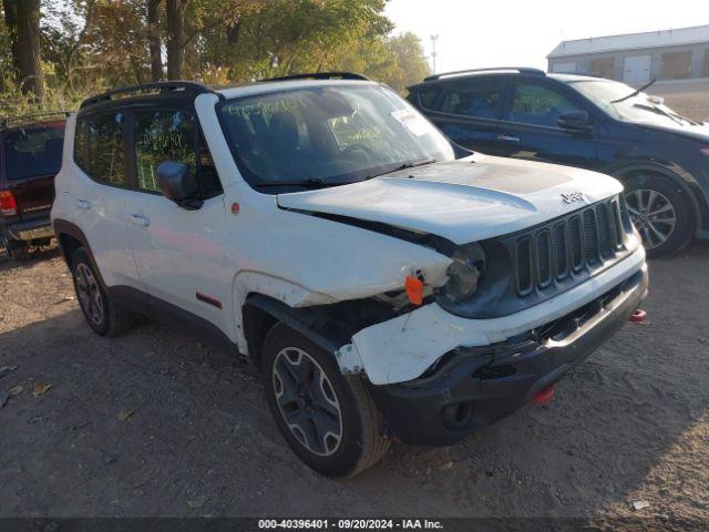
<path fill-rule="evenodd" d="M 618 197 L 515 235 L 518 296 L 549 288 L 568 277 L 588 275 L 625 250 L 633 229 Z"/>

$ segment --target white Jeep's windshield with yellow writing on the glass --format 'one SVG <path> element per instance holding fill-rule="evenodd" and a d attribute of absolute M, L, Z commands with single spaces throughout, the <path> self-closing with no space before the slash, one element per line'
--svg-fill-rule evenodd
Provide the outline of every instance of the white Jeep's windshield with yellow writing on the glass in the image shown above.
<path fill-rule="evenodd" d="M 455 158 L 418 111 L 379 85 L 329 85 L 222 104 L 232 153 L 255 187 L 333 186 Z"/>

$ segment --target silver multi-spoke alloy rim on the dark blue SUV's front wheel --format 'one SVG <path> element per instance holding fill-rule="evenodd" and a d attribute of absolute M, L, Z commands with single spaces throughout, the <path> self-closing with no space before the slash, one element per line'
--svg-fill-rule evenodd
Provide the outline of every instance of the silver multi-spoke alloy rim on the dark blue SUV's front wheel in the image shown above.
<path fill-rule="evenodd" d="M 626 193 L 625 198 L 647 249 L 661 246 L 672 236 L 677 213 L 667 196 L 649 188 L 637 188 Z"/>

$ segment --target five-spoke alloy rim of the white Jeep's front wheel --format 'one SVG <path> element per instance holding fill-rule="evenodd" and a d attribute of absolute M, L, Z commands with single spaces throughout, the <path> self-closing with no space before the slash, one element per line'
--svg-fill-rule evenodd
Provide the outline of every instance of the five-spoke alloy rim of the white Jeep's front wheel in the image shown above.
<path fill-rule="evenodd" d="M 319 457 L 337 452 L 342 440 L 342 412 L 322 367 L 297 347 L 281 349 L 273 366 L 276 402 L 290 432 Z"/>

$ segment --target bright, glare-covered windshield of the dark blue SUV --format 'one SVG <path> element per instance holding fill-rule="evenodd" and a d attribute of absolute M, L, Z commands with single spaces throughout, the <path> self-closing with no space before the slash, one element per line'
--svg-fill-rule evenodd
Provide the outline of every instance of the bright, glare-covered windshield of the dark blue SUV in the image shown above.
<path fill-rule="evenodd" d="M 566 82 L 580 92 L 614 119 L 624 122 L 643 122 L 655 125 L 691 125 L 692 121 L 680 116 L 667 105 L 653 101 L 651 96 L 639 93 L 621 102 L 635 89 L 609 80 L 573 80 Z"/>

